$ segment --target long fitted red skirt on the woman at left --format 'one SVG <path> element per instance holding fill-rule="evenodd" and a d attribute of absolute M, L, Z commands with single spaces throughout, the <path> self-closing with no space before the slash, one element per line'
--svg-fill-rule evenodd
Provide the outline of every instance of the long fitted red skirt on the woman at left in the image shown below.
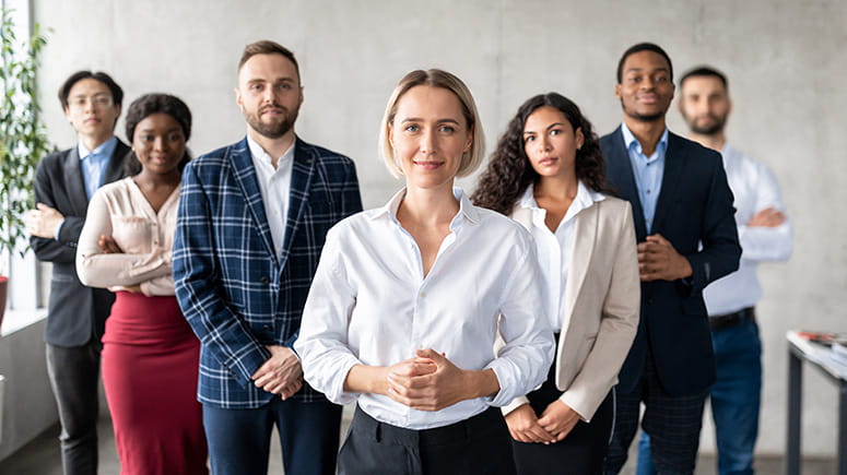
<path fill-rule="evenodd" d="M 209 473 L 199 358 L 176 297 L 117 293 L 103 335 L 103 384 L 122 474 Z"/>

